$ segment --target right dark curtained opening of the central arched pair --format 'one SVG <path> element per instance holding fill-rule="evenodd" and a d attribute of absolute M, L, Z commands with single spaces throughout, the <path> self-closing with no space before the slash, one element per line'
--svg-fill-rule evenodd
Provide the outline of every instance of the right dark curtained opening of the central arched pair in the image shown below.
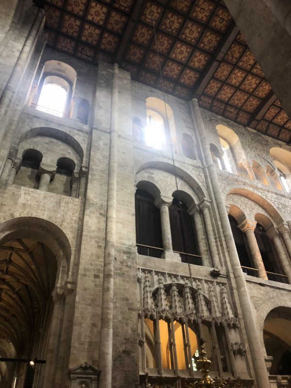
<path fill-rule="evenodd" d="M 202 265 L 194 222 L 187 206 L 174 198 L 169 215 L 173 250 L 180 253 L 182 262 Z"/>

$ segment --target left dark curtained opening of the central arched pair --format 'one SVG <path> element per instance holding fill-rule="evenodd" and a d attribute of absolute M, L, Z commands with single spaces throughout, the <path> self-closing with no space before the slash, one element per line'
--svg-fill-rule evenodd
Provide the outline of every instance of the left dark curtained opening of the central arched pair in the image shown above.
<path fill-rule="evenodd" d="M 135 193 L 135 231 L 138 253 L 161 258 L 163 249 L 160 210 L 154 204 L 154 197 L 141 189 L 137 189 Z"/>

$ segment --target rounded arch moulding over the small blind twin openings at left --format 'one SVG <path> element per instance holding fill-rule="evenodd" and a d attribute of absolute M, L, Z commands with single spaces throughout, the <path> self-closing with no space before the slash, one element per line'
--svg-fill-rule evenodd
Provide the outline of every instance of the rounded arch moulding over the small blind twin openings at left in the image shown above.
<path fill-rule="evenodd" d="M 24 140 L 30 139 L 34 136 L 48 136 L 66 143 L 68 146 L 71 146 L 77 152 L 81 162 L 83 162 L 84 151 L 80 143 L 70 134 L 56 128 L 37 127 L 29 129 L 21 135 L 20 139 L 18 140 L 17 146 L 19 146 L 19 144 L 22 143 Z"/>

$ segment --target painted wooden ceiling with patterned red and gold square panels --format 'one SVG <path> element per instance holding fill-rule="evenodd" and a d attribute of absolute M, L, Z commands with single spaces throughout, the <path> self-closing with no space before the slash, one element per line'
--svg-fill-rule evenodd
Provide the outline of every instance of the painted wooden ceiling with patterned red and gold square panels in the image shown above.
<path fill-rule="evenodd" d="M 160 90 L 161 65 L 166 93 L 291 141 L 291 122 L 222 0 L 36 1 L 55 49 L 117 62 Z"/>

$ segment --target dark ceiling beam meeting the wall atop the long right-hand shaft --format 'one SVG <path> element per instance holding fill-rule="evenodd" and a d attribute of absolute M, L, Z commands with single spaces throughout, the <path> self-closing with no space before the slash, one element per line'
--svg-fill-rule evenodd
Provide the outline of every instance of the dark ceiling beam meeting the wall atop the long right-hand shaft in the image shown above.
<path fill-rule="evenodd" d="M 229 26 L 228 34 L 226 34 L 220 42 L 220 45 L 218 46 L 212 57 L 212 61 L 209 61 L 208 65 L 205 67 L 205 70 L 200 76 L 200 81 L 198 81 L 198 83 L 195 85 L 194 97 L 197 98 L 202 94 L 203 90 L 205 89 L 210 79 L 213 77 L 215 71 L 217 70 L 217 67 L 224 59 L 226 52 L 230 48 L 232 42 L 234 41 L 238 33 L 238 27 L 235 25 L 234 22 L 232 22 L 232 24 Z"/>

